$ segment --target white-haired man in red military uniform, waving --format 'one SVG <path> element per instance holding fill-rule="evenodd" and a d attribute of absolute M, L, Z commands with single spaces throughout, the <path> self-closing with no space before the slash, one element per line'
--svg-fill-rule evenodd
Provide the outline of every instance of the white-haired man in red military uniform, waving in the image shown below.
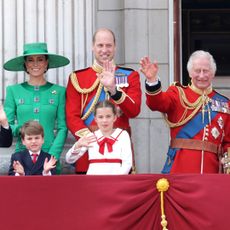
<path fill-rule="evenodd" d="M 171 142 L 163 173 L 218 173 L 220 158 L 230 147 L 229 99 L 212 88 L 216 63 L 205 51 L 189 58 L 189 86 L 173 84 L 161 90 L 158 65 L 141 59 L 146 76 L 146 103 L 164 114 Z"/>

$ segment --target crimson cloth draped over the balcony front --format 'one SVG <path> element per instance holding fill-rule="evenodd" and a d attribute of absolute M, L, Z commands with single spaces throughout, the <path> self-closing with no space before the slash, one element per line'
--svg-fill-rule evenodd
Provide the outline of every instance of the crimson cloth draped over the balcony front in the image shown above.
<path fill-rule="evenodd" d="M 229 229 L 229 175 L 0 177 L 1 229 L 160 230 L 156 182 L 167 178 L 169 230 Z"/>

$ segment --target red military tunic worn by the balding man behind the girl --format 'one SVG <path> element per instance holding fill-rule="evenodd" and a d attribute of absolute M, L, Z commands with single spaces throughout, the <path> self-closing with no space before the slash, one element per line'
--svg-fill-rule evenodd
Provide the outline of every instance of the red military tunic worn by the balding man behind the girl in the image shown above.
<path fill-rule="evenodd" d="M 130 74 L 127 78 L 128 85 L 123 87 L 122 85 L 119 86 L 119 88 L 122 90 L 122 93 L 121 91 L 119 91 L 121 98 L 120 96 L 119 98 L 114 99 L 110 97 L 110 100 L 114 104 L 116 104 L 121 110 L 121 114 L 118 116 L 114 127 L 130 131 L 129 118 L 134 118 L 140 113 L 140 77 L 138 72 L 134 70 L 127 68 L 122 69 L 130 71 Z M 81 89 L 90 89 L 97 80 L 97 72 L 91 67 L 76 71 L 74 73 L 74 77 L 77 78 L 78 84 Z M 76 87 L 74 87 L 71 78 L 69 78 L 66 90 L 66 121 L 68 129 L 71 131 L 76 139 L 81 136 L 81 134 L 79 134 L 79 131 L 81 132 L 86 128 L 92 130 L 96 127 L 96 123 L 94 120 L 90 124 L 90 126 L 87 127 L 81 117 L 82 111 L 85 109 L 86 105 L 96 95 L 98 87 L 99 84 L 97 84 L 94 89 L 92 88 L 92 90 L 89 90 L 88 93 L 83 94 L 82 92 L 79 92 Z M 85 154 L 84 156 L 85 157 L 82 157 L 77 162 L 77 171 L 79 172 L 86 172 L 88 168 L 87 154 Z"/>

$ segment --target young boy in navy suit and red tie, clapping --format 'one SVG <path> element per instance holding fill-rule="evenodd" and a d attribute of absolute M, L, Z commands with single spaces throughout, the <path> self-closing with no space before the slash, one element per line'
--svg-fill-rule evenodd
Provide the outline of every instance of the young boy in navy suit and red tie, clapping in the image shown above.
<path fill-rule="evenodd" d="M 41 150 L 44 143 L 44 130 L 37 121 L 28 121 L 21 128 L 21 139 L 26 150 L 11 156 L 9 175 L 53 175 L 56 174 L 57 160 Z"/>

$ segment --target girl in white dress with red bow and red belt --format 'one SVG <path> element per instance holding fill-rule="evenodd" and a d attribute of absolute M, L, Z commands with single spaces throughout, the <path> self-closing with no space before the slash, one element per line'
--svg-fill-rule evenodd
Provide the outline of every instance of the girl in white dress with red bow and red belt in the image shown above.
<path fill-rule="evenodd" d="M 81 137 L 67 152 L 66 162 L 75 163 L 88 151 L 88 175 L 128 174 L 132 167 L 132 148 L 129 134 L 113 128 L 116 108 L 108 100 L 98 102 L 94 111 L 98 130 Z"/>

